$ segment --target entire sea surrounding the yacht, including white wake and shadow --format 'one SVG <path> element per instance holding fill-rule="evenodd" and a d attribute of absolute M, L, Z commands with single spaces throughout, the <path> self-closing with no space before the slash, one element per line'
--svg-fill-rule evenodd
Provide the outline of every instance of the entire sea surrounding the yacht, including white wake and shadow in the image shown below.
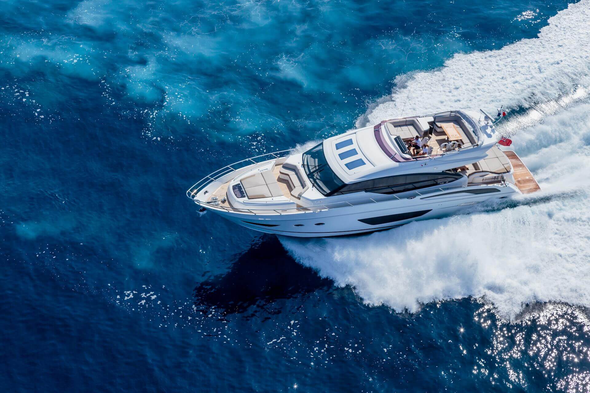
<path fill-rule="evenodd" d="M 590 391 L 590 1 L 0 1 L 0 389 Z M 542 191 L 372 235 L 185 196 L 480 108 Z"/>

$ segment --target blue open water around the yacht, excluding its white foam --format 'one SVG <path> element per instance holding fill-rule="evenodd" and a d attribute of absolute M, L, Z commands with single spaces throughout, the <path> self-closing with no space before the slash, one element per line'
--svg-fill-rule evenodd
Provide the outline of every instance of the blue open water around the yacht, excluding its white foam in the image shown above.
<path fill-rule="evenodd" d="M 590 346 L 578 311 L 509 323 L 470 296 L 367 305 L 185 196 L 225 164 L 352 128 L 396 78 L 534 38 L 567 6 L 0 2 L 0 386 L 570 388 L 590 369 L 563 355 Z"/>

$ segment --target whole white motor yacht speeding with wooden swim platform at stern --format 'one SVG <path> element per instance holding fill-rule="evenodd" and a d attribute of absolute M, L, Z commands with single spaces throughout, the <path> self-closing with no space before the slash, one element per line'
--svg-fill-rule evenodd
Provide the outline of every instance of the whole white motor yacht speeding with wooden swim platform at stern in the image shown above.
<path fill-rule="evenodd" d="M 417 140 L 427 147 L 412 148 Z M 228 165 L 187 196 L 202 209 L 277 235 L 390 229 L 539 190 L 516 153 L 501 150 L 497 140 L 483 111 L 396 118 L 303 153 L 277 151 Z"/>

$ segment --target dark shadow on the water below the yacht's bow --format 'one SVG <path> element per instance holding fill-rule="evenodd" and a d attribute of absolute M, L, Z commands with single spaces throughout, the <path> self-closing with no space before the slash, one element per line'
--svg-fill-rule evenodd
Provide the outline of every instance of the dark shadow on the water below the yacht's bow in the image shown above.
<path fill-rule="evenodd" d="M 266 320 L 285 311 L 278 300 L 300 298 L 297 309 L 303 306 L 304 295 L 332 289 L 332 280 L 297 263 L 276 236 L 263 235 L 237 257 L 229 272 L 199 283 L 193 295 L 202 313 L 215 310 L 220 316 L 242 314 Z"/>

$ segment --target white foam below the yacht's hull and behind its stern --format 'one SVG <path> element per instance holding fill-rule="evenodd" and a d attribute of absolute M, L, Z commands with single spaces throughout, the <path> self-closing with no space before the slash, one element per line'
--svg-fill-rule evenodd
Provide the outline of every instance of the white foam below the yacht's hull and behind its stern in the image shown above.
<path fill-rule="evenodd" d="M 281 242 L 320 275 L 396 311 L 466 296 L 484 296 L 506 318 L 535 301 L 588 306 L 588 124 L 590 105 L 579 104 L 514 137 L 543 189 L 517 207 L 488 207 L 368 236 Z M 543 198 L 548 194 L 553 197 Z"/>

